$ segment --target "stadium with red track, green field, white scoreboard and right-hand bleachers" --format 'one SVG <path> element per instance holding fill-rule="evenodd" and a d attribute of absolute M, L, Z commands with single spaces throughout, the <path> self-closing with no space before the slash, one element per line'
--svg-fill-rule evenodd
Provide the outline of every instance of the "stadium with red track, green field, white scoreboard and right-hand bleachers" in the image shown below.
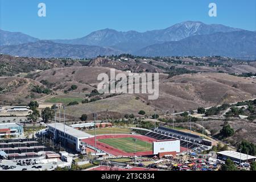
<path fill-rule="evenodd" d="M 174 134 L 175 133 L 175 134 Z M 205 143 L 197 135 L 178 132 L 164 127 L 148 130 L 144 135 L 102 134 L 96 136 L 96 155 L 154 156 L 176 155 Z M 81 140 L 87 154 L 94 155 L 94 137 Z"/>

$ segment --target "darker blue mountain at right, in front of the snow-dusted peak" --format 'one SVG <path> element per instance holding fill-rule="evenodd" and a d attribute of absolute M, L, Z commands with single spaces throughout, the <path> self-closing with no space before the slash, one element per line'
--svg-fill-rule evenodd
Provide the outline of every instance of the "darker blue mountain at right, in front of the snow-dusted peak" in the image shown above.
<path fill-rule="evenodd" d="M 217 32 L 195 35 L 179 41 L 154 44 L 134 52 L 141 56 L 229 56 L 256 59 L 256 33 Z"/>

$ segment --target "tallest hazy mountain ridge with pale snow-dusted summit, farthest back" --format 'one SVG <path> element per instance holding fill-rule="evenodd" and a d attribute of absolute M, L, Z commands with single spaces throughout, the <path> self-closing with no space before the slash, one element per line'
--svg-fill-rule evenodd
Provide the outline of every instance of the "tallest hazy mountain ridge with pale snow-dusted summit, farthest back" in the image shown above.
<path fill-rule="evenodd" d="M 127 31 L 119 32 L 105 29 L 71 40 L 52 40 L 57 43 L 84 44 L 90 46 L 108 46 L 126 52 L 137 51 L 156 43 L 177 41 L 193 35 L 213 34 L 214 32 L 239 31 L 238 28 L 223 26 L 221 24 L 204 24 L 202 22 L 182 22 L 164 30 L 147 32 Z"/>

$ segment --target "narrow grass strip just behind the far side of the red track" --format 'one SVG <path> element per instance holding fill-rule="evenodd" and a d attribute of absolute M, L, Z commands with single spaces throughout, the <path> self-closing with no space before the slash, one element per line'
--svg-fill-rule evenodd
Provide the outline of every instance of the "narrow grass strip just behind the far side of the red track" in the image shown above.
<path fill-rule="evenodd" d="M 94 130 L 86 130 L 86 133 L 90 135 L 94 135 Z M 105 129 L 96 129 L 96 135 L 103 134 L 130 134 L 131 129 L 126 127 L 110 127 Z"/>

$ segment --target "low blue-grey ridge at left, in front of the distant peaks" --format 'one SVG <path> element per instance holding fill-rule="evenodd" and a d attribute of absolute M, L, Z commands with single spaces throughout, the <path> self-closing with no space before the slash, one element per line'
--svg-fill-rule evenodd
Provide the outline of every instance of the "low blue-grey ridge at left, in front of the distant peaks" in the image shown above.
<path fill-rule="evenodd" d="M 13 56 L 70 57 L 79 59 L 97 57 L 98 55 L 119 55 L 122 52 L 113 48 L 60 44 L 48 40 L 40 40 L 16 46 L 0 46 L 0 53 Z"/>

